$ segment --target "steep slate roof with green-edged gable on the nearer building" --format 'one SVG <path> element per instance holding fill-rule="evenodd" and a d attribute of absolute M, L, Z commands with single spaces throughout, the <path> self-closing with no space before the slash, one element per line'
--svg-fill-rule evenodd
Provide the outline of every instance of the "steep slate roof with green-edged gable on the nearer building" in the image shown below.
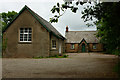
<path fill-rule="evenodd" d="M 23 7 L 23 9 L 14 17 L 14 19 L 6 26 L 6 28 L 2 31 L 3 33 L 6 31 L 6 29 L 16 20 L 16 18 L 25 10 L 27 9 L 33 17 L 35 17 L 41 25 L 43 25 L 50 33 L 55 35 L 58 38 L 65 39 L 48 21 L 40 17 L 38 14 L 36 14 L 34 11 L 32 11 L 29 7 L 26 5 Z"/>

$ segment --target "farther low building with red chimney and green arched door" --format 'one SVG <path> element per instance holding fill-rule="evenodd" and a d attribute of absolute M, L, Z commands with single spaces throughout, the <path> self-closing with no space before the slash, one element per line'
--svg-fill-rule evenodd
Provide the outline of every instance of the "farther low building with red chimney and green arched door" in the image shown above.
<path fill-rule="evenodd" d="M 69 31 L 66 27 L 66 52 L 100 52 L 103 51 L 103 44 L 96 37 L 97 31 Z"/>

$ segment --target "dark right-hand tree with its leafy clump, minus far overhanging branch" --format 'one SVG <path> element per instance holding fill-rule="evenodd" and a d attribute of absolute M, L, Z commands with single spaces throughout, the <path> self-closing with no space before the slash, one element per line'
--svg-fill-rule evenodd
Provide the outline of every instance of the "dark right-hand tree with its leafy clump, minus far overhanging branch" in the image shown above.
<path fill-rule="evenodd" d="M 96 18 L 97 37 L 105 44 L 108 53 L 120 54 L 120 2 L 99 3 L 88 7 L 82 13 L 85 21 Z M 87 17 L 86 17 L 87 16 Z"/>

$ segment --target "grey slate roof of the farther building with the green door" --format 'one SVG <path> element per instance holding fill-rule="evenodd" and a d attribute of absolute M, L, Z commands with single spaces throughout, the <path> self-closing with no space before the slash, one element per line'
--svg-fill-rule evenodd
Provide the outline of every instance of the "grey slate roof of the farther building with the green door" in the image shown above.
<path fill-rule="evenodd" d="M 65 33 L 66 43 L 80 43 L 84 38 L 87 43 L 98 43 L 96 31 L 68 31 Z"/>

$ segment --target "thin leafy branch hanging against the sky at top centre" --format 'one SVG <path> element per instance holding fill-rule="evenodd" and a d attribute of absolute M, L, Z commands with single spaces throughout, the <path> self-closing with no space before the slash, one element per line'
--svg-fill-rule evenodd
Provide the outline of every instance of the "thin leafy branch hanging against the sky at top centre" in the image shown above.
<path fill-rule="evenodd" d="M 50 22 L 58 22 L 58 19 L 66 12 L 67 9 L 71 9 L 72 12 L 76 13 L 78 10 L 78 5 L 83 5 L 87 3 L 88 0 L 83 0 L 83 1 L 76 1 L 74 2 L 76 5 L 73 5 L 73 1 L 71 0 L 64 0 L 64 4 L 57 3 L 57 5 L 54 5 L 53 8 L 51 9 L 51 12 L 53 14 L 58 13 L 58 15 L 55 15 L 54 17 L 50 18 Z M 88 3 L 91 4 L 90 1 Z"/>

